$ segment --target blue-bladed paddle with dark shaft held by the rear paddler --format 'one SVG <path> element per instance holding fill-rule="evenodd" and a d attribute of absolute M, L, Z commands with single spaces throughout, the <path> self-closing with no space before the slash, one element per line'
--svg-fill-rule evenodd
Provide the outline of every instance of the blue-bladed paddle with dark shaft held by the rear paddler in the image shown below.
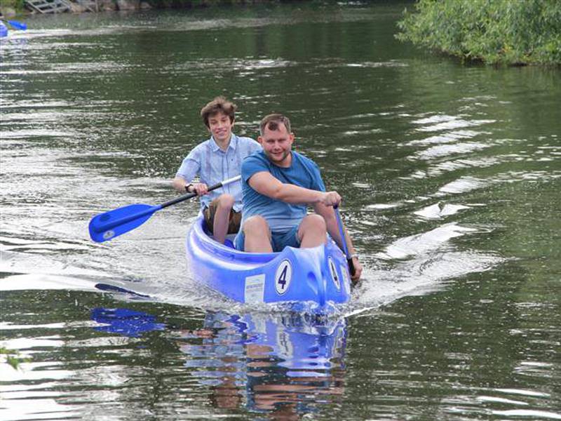
<path fill-rule="evenodd" d="M 219 189 L 224 185 L 238 180 L 240 180 L 239 175 L 208 187 L 208 191 Z M 122 208 L 100 213 L 90 220 L 90 237 L 93 241 L 97 241 L 98 243 L 114 239 L 116 236 L 125 234 L 144 224 L 156 210 L 167 208 L 168 206 L 175 205 L 175 203 L 191 199 L 196 195 L 196 193 L 188 193 L 162 203 L 161 205 L 150 206 L 137 203 L 135 205 L 123 206 Z"/>

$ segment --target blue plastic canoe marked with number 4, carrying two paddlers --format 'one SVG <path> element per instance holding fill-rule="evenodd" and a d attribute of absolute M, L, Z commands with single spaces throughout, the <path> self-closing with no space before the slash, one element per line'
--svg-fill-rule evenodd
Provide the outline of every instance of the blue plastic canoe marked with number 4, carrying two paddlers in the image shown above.
<path fill-rule="evenodd" d="M 245 253 L 214 241 L 201 217 L 187 233 L 186 248 L 194 279 L 238 302 L 311 302 L 323 308 L 351 297 L 346 259 L 331 240 L 314 248 Z"/>

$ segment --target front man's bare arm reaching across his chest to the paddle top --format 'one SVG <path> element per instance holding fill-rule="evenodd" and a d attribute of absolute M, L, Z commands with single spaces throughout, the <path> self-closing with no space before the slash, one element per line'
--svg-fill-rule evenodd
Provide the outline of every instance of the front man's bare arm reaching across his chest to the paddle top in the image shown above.
<path fill-rule="evenodd" d="M 259 171 L 253 174 L 248 183 L 256 192 L 286 203 L 309 205 L 323 203 L 325 206 L 332 206 L 339 204 L 341 201 L 341 196 L 337 192 L 319 192 L 318 190 L 283 183 L 267 171 Z"/>

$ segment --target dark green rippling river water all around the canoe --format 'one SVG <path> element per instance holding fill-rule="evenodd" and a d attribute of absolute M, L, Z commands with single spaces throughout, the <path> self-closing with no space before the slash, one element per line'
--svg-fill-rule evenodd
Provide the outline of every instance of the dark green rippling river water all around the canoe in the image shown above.
<path fill-rule="evenodd" d="M 2 420 L 561 419 L 561 74 L 393 39 L 404 5 L 32 17 L 0 41 Z M 185 274 L 162 203 L 215 95 L 292 119 L 365 265 L 329 319 Z M 121 288 L 121 289 L 120 289 Z"/>

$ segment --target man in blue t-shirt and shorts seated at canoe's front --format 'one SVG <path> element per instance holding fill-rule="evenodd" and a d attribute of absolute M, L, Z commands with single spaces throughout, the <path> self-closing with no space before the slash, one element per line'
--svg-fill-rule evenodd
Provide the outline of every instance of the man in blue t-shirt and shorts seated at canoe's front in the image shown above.
<path fill-rule="evenodd" d="M 263 150 L 248 156 L 241 166 L 243 218 L 234 240 L 236 248 L 269 253 L 285 246 L 316 247 L 325 243 L 327 232 L 341 245 L 333 210 L 341 196 L 325 192 L 316 163 L 292 151 L 290 120 L 269 114 L 261 121 L 259 133 Z M 306 215 L 308 205 L 315 214 Z M 346 230 L 345 237 L 356 269 L 353 281 L 358 281 L 363 268 Z"/>

